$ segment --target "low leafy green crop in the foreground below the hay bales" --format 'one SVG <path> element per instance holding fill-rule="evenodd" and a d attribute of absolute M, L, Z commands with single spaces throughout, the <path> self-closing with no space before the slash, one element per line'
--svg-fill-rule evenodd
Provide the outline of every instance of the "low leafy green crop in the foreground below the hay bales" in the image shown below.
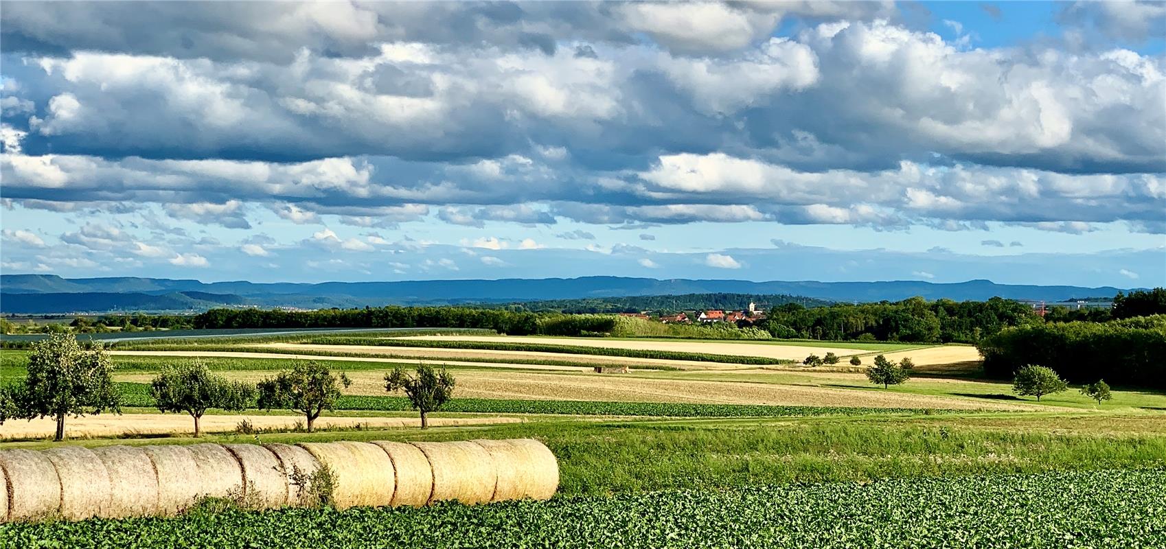
<path fill-rule="evenodd" d="M 895 479 L 550 502 L 192 513 L 0 527 L 9 547 L 1097 547 L 1166 544 L 1166 471 Z M 936 505 L 942 502 L 942 505 Z M 1034 522 L 1033 519 L 1040 520 Z M 907 520 L 906 518 L 909 518 Z M 466 525 L 473 525 L 468 528 Z M 7 532 L 5 532 L 7 530 Z M 435 540 L 440 540 L 435 543 Z"/>

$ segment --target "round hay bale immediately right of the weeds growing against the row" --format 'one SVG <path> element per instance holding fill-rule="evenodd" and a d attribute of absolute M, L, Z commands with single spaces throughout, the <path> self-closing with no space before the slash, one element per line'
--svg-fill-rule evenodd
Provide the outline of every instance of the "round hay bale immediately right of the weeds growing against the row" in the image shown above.
<path fill-rule="evenodd" d="M 393 501 L 393 462 L 380 446 L 365 442 L 301 443 L 336 476 L 332 504 L 338 509 L 386 506 Z"/>

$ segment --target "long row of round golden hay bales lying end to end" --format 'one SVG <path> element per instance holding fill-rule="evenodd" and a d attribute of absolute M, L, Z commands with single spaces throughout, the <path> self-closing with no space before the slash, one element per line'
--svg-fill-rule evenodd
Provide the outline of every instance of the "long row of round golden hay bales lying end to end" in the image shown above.
<path fill-rule="evenodd" d="M 559 463 L 539 441 L 192 444 L 0 451 L 7 521 L 170 516 L 201 498 L 311 505 L 293 471 L 335 474 L 332 505 L 549 499 Z"/>

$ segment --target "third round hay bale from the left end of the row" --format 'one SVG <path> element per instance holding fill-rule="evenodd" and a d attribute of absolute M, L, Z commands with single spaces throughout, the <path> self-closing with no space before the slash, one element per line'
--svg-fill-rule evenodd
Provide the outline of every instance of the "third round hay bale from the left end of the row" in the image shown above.
<path fill-rule="evenodd" d="M 100 516 L 117 519 L 157 512 L 157 473 L 141 448 L 94 448 L 93 455 L 110 474 L 110 506 Z"/>

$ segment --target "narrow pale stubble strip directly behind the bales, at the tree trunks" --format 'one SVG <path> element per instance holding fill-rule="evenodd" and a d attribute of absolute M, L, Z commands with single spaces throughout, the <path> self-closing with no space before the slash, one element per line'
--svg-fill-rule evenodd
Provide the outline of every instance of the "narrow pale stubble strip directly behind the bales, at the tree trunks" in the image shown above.
<path fill-rule="evenodd" d="M 379 374 L 382 375 L 382 374 Z M 261 378 L 261 375 L 259 375 Z M 384 388 L 381 389 L 384 393 Z M 303 422 L 303 416 L 271 415 L 205 415 L 203 432 L 234 431 L 240 421 L 247 420 L 257 429 L 292 429 L 296 422 Z M 521 423 L 517 417 L 430 417 L 429 424 L 440 425 L 482 425 L 492 423 Z M 356 427 L 370 428 L 415 428 L 421 427 L 421 420 L 414 417 L 319 417 L 316 428 Z M 65 434 L 72 438 L 167 435 L 191 432 L 190 416 L 176 414 L 101 414 L 69 418 Z M 44 438 L 51 437 L 56 422 L 51 418 L 7 422 L 0 427 L 0 439 L 5 438 Z"/>

